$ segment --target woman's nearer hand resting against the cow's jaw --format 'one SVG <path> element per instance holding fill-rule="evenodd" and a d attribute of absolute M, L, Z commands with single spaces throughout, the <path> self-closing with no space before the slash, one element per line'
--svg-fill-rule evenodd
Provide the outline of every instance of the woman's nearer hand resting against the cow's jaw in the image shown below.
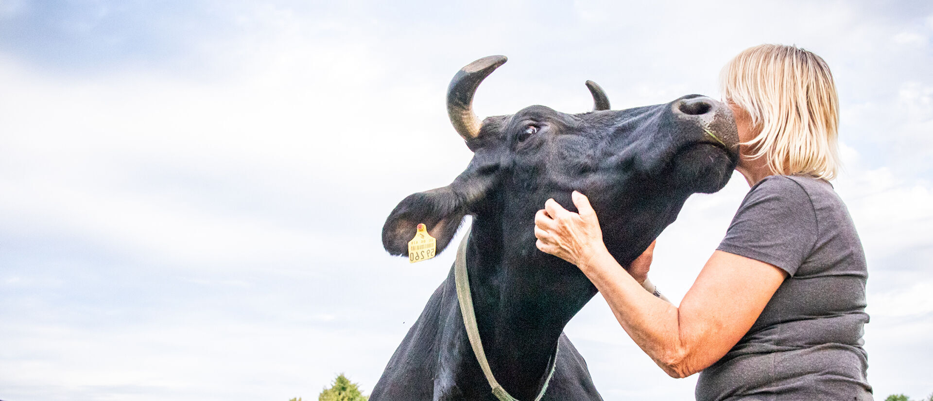
<path fill-rule="evenodd" d="M 608 251 L 590 200 L 578 191 L 574 191 L 571 197 L 578 213 L 564 209 L 553 199 L 544 203 L 544 209 L 537 211 L 536 246 L 542 252 L 558 256 L 586 272 L 590 260 L 602 256 L 602 253 L 608 254 Z"/>

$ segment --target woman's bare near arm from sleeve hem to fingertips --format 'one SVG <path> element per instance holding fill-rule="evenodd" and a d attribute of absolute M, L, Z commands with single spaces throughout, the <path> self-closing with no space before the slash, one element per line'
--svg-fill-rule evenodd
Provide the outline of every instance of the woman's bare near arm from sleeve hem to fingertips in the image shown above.
<path fill-rule="evenodd" d="M 579 214 L 549 200 L 535 219 L 538 249 L 574 263 L 606 298 L 622 328 L 668 375 L 713 365 L 758 319 L 786 273 L 716 251 L 679 307 L 653 297 L 608 253 L 595 212 L 574 193 Z"/>

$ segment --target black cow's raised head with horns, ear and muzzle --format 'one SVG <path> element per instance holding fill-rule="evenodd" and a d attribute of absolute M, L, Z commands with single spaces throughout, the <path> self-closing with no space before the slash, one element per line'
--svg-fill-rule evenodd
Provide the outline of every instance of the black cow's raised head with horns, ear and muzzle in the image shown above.
<path fill-rule="evenodd" d="M 383 227 L 392 255 L 407 256 L 418 223 L 440 251 L 462 218 L 474 214 L 499 220 L 509 253 L 553 257 L 535 248 L 534 215 L 549 198 L 576 210 L 570 200 L 576 189 L 590 198 L 609 251 L 627 265 L 674 221 L 690 194 L 715 192 L 729 181 L 738 157 L 731 110 L 701 95 L 606 110 L 605 94 L 588 82 L 596 104 L 590 113 L 533 105 L 480 122 L 473 93 L 506 60 L 486 57 L 453 77 L 448 113 L 473 159 L 451 185 L 397 205 Z"/>

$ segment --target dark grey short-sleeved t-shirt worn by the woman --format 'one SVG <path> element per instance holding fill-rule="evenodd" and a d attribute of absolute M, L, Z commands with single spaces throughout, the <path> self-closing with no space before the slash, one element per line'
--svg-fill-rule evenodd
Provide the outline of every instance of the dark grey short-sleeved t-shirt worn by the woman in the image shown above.
<path fill-rule="evenodd" d="M 865 254 L 828 182 L 801 175 L 761 180 L 718 249 L 789 276 L 745 337 L 700 374 L 698 401 L 871 399 L 862 349 Z"/>

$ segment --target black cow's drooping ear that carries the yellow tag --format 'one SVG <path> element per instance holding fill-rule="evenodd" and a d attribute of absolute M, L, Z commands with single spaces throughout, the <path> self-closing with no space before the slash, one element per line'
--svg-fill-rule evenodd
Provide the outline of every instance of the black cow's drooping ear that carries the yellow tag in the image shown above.
<path fill-rule="evenodd" d="M 408 242 L 419 223 L 437 240 L 437 253 L 447 247 L 464 216 L 498 185 L 498 163 L 478 159 L 451 185 L 413 193 L 398 203 L 383 225 L 383 247 L 389 254 L 408 256 Z"/>

